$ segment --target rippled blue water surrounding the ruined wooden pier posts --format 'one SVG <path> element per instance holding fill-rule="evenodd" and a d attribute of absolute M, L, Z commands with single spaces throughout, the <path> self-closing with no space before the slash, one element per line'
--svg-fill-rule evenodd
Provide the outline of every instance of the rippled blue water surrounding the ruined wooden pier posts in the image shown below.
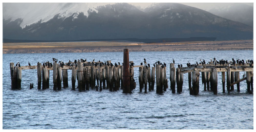
<path fill-rule="evenodd" d="M 235 86 L 235 91 L 223 94 L 219 72 L 218 95 L 213 95 L 204 91 L 200 76 L 199 95 L 192 96 L 188 73 L 184 74 L 182 94 L 172 94 L 169 80 L 172 59 L 175 67 L 214 57 L 253 59 L 253 50 L 130 52 L 135 65 L 140 65 L 143 58 L 152 66 L 158 60 L 167 64 L 169 87 L 163 95 L 157 95 L 155 90 L 139 93 L 138 68 L 134 68 L 137 85 L 132 94 L 108 89 L 71 91 L 71 70 L 69 87 L 61 91 L 52 90 L 52 71 L 50 88 L 38 90 L 37 70 L 23 70 L 22 89 L 11 90 L 10 62 L 37 65 L 38 61 L 51 61 L 53 57 L 64 62 L 80 58 L 123 62 L 123 52 L 3 54 L 3 129 L 253 129 L 253 94 L 247 93 L 246 81 L 240 83 L 240 92 Z M 240 78 L 243 74 L 240 72 Z M 30 83 L 35 88 L 29 89 Z"/>

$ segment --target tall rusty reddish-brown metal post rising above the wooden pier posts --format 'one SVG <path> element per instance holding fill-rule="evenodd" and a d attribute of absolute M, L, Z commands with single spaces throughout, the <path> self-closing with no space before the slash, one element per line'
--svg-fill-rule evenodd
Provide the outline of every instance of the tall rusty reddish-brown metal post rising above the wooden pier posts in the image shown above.
<path fill-rule="evenodd" d="M 124 49 L 123 93 L 130 92 L 129 49 Z"/>

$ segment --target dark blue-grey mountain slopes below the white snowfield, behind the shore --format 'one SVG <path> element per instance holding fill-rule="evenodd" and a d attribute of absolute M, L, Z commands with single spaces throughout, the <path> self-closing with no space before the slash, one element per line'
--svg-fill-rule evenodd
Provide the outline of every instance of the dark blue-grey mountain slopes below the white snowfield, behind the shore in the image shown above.
<path fill-rule="evenodd" d="M 178 3 L 152 4 L 144 11 L 127 3 L 116 3 L 89 8 L 87 12 L 72 12 L 70 16 L 54 14 L 48 21 L 39 20 L 23 28 L 20 27 L 22 18 L 14 21 L 3 19 L 3 38 L 63 41 L 117 38 L 253 38 L 253 29 L 246 24 Z"/>

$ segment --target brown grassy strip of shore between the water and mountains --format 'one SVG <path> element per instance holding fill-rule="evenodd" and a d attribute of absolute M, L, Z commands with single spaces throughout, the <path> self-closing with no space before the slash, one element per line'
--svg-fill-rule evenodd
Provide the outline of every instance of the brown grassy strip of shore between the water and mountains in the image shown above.
<path fill-rule="evenodd" d="M 253 40 L 199 41 L 172 43 L 140 42 L 40 42 L 3 43 L 3 54 L 55 52 L 121 52 L 130 51 L 190 51 L 190 50 L 253 50 Z"/>

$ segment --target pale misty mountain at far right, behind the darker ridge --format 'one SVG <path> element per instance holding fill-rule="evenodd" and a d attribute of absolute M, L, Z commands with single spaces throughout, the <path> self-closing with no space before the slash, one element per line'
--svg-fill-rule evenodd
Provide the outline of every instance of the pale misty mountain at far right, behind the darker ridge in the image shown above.
<path fill-rule="evenodd" d="M 222 4 L 221 7 L 209 9 L 208 12 L 241 22 L 253 27 L 253 7 L 242 3 Z"/>

